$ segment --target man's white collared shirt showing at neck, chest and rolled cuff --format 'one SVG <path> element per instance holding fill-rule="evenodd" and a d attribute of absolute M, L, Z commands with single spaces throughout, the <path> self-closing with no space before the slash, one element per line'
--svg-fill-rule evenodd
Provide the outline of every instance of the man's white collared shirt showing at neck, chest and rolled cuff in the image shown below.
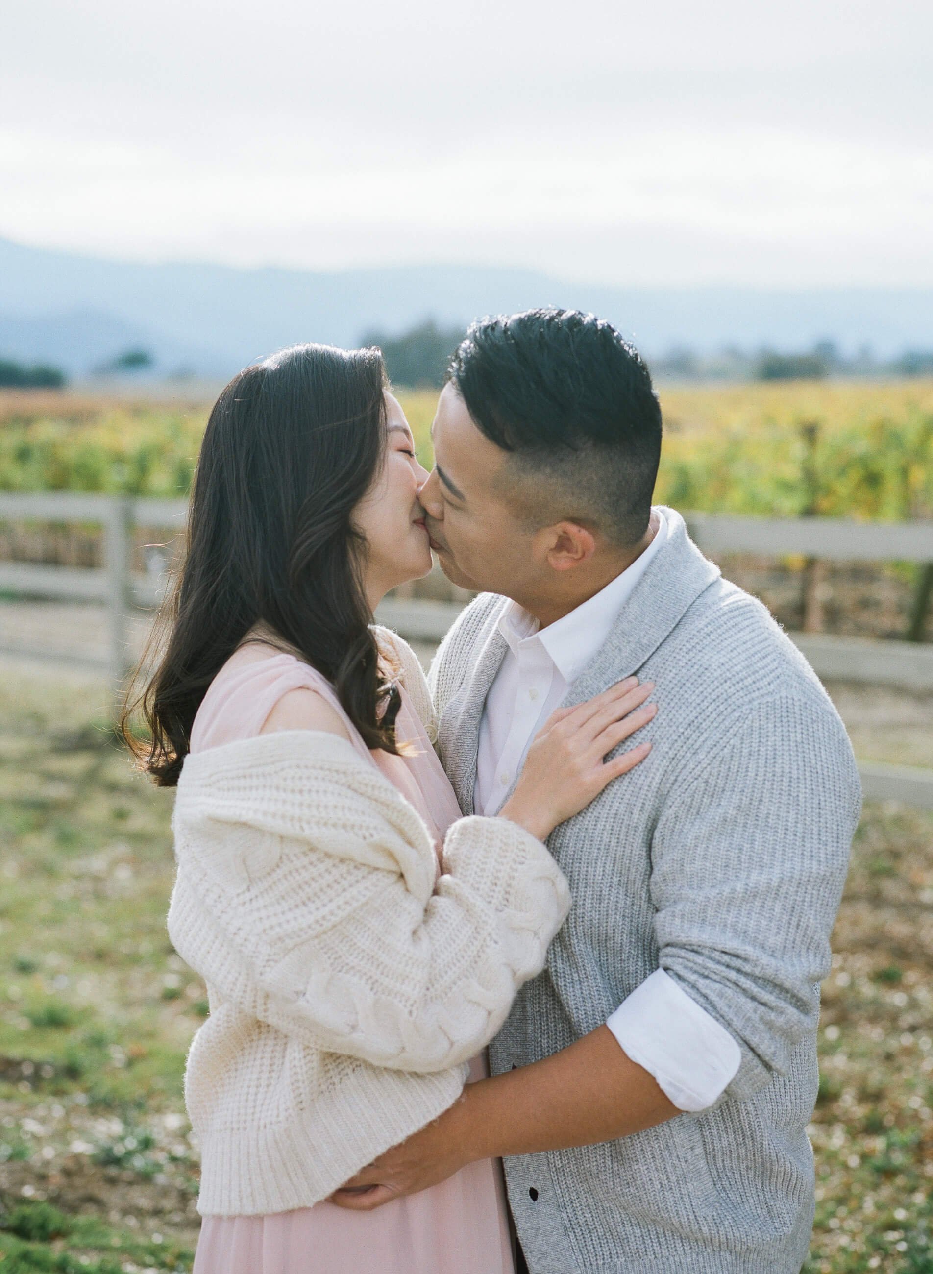
<path fill-rule="evenodd" d="M 474 808 L 498 813 L 534 736 L 605 643 L 622 606 L 668 535 L 664 515 L 644 553 L 570 614 L 539 628 L 512 601 L 500 618 L 509 650 L 486 697 L 479 725 Z M 721 1094 L 741 1052 L 729 1032 L 664 970 L 655 970 L 609 1017 L 622 1049 L 684 1111 Z"/>

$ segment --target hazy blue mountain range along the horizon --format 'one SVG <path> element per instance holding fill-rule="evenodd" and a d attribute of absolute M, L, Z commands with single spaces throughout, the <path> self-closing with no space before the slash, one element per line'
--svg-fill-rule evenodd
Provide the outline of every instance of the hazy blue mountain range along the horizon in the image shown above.
<path fill-rule="evenodd" d="M 428 316 L 454 326 L 539 304 L 600 313 L 649 358 L 672 347 L 799 350 L 823 339 L 882 355 L 933 348 L 929 288 L 627 289 L 491 266 L 149 265 L 0 238 L 0 358 L 78 377 L 127 348 L 149 350 L 161 376 L 227 377 L 294 341 L 354 345 L 366 331 L 399 333 Z"/>

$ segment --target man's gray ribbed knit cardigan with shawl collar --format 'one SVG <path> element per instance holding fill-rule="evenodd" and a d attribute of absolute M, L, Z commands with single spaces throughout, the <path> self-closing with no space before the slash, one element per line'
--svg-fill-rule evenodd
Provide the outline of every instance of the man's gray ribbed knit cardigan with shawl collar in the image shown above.
<path fill-rule="evenodd" d="M 532 1274 L 792 1274 L 813 1223 L 807 1124 L 820 982 L 858 823 L 845 729 L 761 603 L 670 534 L 565 705 L 636 673 L 654 749 L 548 846 L 572 907 L 489 1052 L 495 1073 L 565 1049 L 663 968 L 737 1040 L 719 1101 L 616 1142 L 506 1161 Z M 473 810 L 503 598 L 445 638 L 438 750 Z"/>

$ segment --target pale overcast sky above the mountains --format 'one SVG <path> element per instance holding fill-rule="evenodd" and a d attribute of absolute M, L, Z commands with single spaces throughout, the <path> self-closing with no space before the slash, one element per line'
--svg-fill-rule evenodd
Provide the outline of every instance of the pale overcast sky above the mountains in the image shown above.
<path fill-rule="evenodd" d="M 0 33 L 0 234 L 930 285 L 932 47 L 929 0 L 28 0 Z"/>

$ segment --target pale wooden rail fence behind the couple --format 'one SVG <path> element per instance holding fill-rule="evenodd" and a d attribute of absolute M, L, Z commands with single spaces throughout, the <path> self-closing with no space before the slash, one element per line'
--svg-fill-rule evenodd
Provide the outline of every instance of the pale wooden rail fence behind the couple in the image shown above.
<path fill-rule="evenodd" d="M 119 684 L 127 665 L 127 631 L 138 608 L 156 606 L 163 575 L 131 569 L 135 526 L 178 534 L 186 501 L 89 496 L 0 493 L 0 522 L 92 522 L 105 529 L 105 566 L 80 568 L 0 562 L 0 591 L 43 599 L 80 599 L 107 608 L 107 668 Z M 849 562 L 933 563 L 933 522 L 846 522 L 817 517 L 757 519 L 686 513 L 691 535 L 710 557 L 756 553 Z M 380 622 L 412 641 L 440 641 L 460 612 L 456 603 L 387 598 Z M 933 646 L 906 641 L 871 641 L 816 633 L 790 633 L 816 673 L 827 680 L 863 682 L 933 692 Z M 0 651 L 13 652 L 4 646 Z M 19 651 L 22 654 L 22 651 Z M 97 664 L 96 660 L 82 660 Z M 933 773 L 922 768 L 863 763 L 865 795 L 933 808 Z"/>

